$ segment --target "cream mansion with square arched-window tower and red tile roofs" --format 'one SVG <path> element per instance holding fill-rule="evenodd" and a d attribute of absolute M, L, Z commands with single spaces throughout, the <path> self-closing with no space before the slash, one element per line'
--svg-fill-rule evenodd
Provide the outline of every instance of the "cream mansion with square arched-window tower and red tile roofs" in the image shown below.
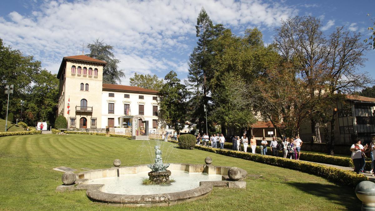
<path fill-rule="evenodd" d="M 103 83 L 107 63 L 85 55 L 64 57 L 57 78 L 60 80 L 58 116 L 68 120 L 69 130 L 130 128 L 132 118 L 141 115 L 135 128 L 158 127 L 156 90 Z M 68 109 L 69 104 L 69 109 Z"/>

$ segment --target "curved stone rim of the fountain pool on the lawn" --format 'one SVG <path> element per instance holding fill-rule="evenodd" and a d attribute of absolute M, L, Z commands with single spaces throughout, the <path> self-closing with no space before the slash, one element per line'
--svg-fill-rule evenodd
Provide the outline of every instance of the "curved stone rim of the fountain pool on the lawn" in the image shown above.
<path fill-rule="evenodd" d="M 75 185 L 75 190 L 86 190 L 86 195 L 90 200 L 98 203 L 105 203 L 112 206 L 171 206 L 177 203 L 188 202 L 206 196 L 212 191 L 213 187 L 227 187 L 227 188 L 246 188 L 244 178 L 239 181 L 229 181 L 228 166 L 212 166 L 203 164 L 184 164 L 172 163 L 168 167 L 169 170 L 183 171 L 186 173 L 204 173 L 206 175 L 219 175 L 216 181 L 200 181 L 199 186 L 190 190 L 177 191 L 172 193 L 157 193 L 157 194 L 116 194 L 106 193 L 104 184 L 89 184 L 89 181 L 106 178 L 106 177 L 121 177 L 123 175 L 132 175 L 142 172 L 148 172 L 147 165 L 138 165 L 130 167 L 113 167 L 110 169 L 97 169 L 87 172 L 77 173 L 78 183 Z M 174 178 L 172 173 L 172 178 Z M 174 178 L 178 180 L 178 178 Z M 141 181 L 140 181 L 141 182 Z M 77 182 L 76 182 L 77 183 Z"/>

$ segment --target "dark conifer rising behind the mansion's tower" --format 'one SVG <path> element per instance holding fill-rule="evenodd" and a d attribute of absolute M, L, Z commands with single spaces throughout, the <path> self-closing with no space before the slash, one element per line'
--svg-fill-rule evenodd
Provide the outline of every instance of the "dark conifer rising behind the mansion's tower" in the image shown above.
<path fill-rule="evenodd" d="M 113 46 L 106 44 L 103 40 L 96 39 L 94 43 L 87 44 L 86 47 L 90 49 L 90 53 L 86 56 L 107 62 L 103 69 L 103 83 L 121 83 L 121 78 L 124 78 L 125 74 L 122 69 L 118 69 L 117 64 L 120 63 L 120 60 L 114 56 Z"/>

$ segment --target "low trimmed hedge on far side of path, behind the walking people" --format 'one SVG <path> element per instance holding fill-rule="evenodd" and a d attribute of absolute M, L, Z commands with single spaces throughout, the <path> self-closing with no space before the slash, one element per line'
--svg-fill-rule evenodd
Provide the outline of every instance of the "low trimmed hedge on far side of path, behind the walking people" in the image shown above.
<path fill-rule="evenodd" d="M 232 149 L 232 143 L 224 143 L 224 148 Z M 248 152 L 251 152 L 251 147 L 248 147 Z M 255 149 L 255 152 L 260 153 L 259 146 L 257 146 L 257 148 Z M 272 152 L 269 148 L 267 150 L 267 155 L 272 155 Z M 281 151 L 279 151 L 279 157 L 282 157 Z M 336 165 L 336 166 L 354 167 L 354 164 L 351 158 L 325 155 L 325 154 L 301 152 L 300 160 L 317 162 L 317 163 L 325 163 L 325 164 L 331 164 L 331 165 Z M 365 169 L 368 169 L 368 170 L 371 169 L 371 161 L 366 161 Z"/>

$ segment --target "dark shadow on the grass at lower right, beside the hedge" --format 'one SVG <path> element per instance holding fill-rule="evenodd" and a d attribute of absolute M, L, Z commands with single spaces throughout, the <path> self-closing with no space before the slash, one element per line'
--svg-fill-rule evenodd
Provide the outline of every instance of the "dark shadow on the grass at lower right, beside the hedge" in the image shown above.
<path fill-rule="evenodd" d="M 312 182 L 287 182 L 286 184 L 319 197 L 324 197 L 332 203 L 345 206 L 348 210 L 360 210 L 362 202 L 357 198 L 353 188 Z"/>

